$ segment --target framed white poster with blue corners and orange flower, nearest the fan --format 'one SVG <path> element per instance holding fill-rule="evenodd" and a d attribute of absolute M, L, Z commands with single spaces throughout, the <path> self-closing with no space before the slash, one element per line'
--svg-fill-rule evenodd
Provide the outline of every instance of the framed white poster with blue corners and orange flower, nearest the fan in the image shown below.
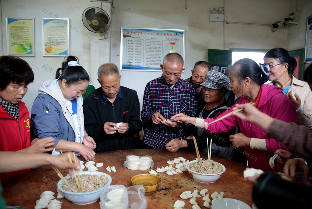
<path fill-rule="evenodd" d="M 69 55 L 69 18 L 42 18 L 43 56 Z"/>

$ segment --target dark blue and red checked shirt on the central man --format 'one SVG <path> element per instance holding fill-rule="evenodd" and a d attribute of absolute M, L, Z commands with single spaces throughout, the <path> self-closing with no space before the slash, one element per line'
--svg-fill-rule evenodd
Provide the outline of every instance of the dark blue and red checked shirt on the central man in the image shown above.
<path fill-rule="evenodd" d="M 144 91 L 143 142 L 156 149 L 164 149 L 172 139 L 185 139 L 191 131 L 192 124 L 181 123 L 178 128 L 171 128 L 162 123 L 151 122 L 152 115 L 159 112 L 165 119 L 184 113 L 196 117 L 197 103 L 194 86 L 179 78 L 172 90 L 163 77 L 150 81 Z"/>

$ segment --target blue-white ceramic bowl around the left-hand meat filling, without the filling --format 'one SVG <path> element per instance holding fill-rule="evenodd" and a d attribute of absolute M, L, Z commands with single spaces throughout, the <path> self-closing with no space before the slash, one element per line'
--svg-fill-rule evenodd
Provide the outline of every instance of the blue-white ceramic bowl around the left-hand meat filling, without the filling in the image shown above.
<path fill-rule="evenodd" d="M 103 189 L 105 187 L 108 187 L 110 185 L 110 183 L 112 182 L 112 178 L 110 177 L 110 175 L 106 174 L 106 173 L 102 173 L 99 171 L 83 171 L 83 172 L 79 172 L 79 174 L 91 174 L 91 175 L 98 175 L 98 176 L 102 176 L 105 175 L 107 176 L 107 184 L 97 190 L 91 191 L 91 192 L 69 192 L 67 190 L 64 190 L 61 186 L 63 184 L 63 180 L 61 179 L 59 182 L 57 182 L 57 188 L 63 192 L 64 196 L 66 197 L 67 200 L 77 204 L 77 205 L 87 205 L 90 203 L 93 203 L 95 201 L 97 201 L 98 199 L 100 199 L 100 194 L 102 193 Z M 70 178 L 70 176 L 66 176 L 66 179 Z"/>

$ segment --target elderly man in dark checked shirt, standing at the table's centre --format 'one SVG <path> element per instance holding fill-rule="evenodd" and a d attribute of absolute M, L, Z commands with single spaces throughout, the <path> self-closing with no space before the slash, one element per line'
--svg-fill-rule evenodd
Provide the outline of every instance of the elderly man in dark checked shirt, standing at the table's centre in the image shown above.
<path fill-rule="evenodd" d="M 177 151 L 180 146 L 173 139 L 185 139 L 191 124 L 179 124 L 169 119 L 178 113 L 196 117 L 197 103 L 194 86 L 182 80 L 184 61 L 178 53 L 169 53 L 160 65 L 163 75 L 151 80 L 145 87 L 141 118 L 143 143 L 156 149 Z M 183 141 L 182 141 L 183 142 Z"/>

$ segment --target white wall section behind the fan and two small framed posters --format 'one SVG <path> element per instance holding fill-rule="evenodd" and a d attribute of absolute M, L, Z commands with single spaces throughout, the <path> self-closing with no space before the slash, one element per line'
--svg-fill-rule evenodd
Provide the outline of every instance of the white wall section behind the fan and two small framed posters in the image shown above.
<path fill-rule="evenodd" d="M 85 0 L 1 0 L 2 52 L 4 55 L 7 55 L 5 17 L 35 18 L 35 57 L 21 56 L 32 67 L 35 75 L 34 82 L 28 85 L 27 94 L 22 100 L 26 103 L 29 112 L 31 112 L 32 103 L 38 95 L 37 90 L 40 85 L 46 80 L 55 79 L 52 71 L 42 69 L 43 65 L 56 70 L 61 67 L 61 63 L 64 61 L 64 57 L 42 56 L 42 17 L 53 15 L 53 18 L 54 14 L 57 14 L 60 18 L 70 18 L 70 54 L 79 58 L 80 64 L 90 75 L 90 84 L 98 82 L 96 80 L 98 67 L 103 62 L 109 62 L 110 33 L 105 33 L 109 38 L 100 40 L 100 43 L 90 40 L 91 37 L 98 39 L 97 33 L 92 33 L 86 29 L 82 23 L 81 15 L 87 7 L 94 6 L 101 7 L 101 3 Z M 102 3 L 102 8 L 110 15 L 110 3 Z M 44 12 L 45 9 L 48 10 L 47 14 Z"/>

